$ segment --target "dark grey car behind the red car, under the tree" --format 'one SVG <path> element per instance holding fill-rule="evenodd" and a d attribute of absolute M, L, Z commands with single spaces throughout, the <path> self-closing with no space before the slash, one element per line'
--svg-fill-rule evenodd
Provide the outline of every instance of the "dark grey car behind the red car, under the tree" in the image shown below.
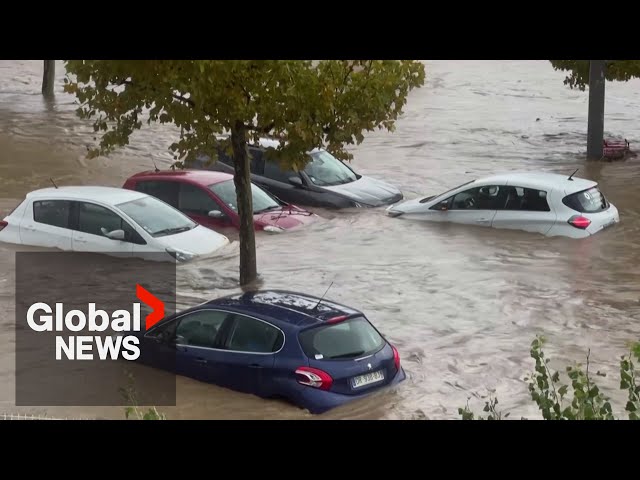
<path fill-rule="evenodd" d="M 380 207 L 403 198 L 402 192 L 393 185 L 356 173 L 324 149 L 309 152 L 309 163 L 303 171 L 285 171 L 276 159 L 267 159 L 265 155 L 266 149 L 277 146 L 275 140 L 262 139 L 258 145 L 249 147 L 251 180 L 284 202 L 340 209 Z M 233 159 L 222 150 L 215 161 L 200 155 L 191 166 L 234 172 Z"/>

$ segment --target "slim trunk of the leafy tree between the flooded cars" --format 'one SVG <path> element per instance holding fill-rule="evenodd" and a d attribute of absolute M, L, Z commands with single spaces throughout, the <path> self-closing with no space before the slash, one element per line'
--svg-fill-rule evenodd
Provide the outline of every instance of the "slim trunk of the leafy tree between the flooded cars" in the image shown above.
<path fill-rule="evenodd" d="M 247 285 L 258 277 L 256 262 L 256 234 L 253 225 L 253 196 L 251 192 L 251 167 L 247 152 L 246 130 L 242 122 L 236 122 L 231 130 L 233 164 L 240 217 L 240 285 Z"/>

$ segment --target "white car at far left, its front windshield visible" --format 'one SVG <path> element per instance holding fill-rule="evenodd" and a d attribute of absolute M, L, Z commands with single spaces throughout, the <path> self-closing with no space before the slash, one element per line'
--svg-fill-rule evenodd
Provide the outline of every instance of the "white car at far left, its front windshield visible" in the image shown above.
<path fill-rule="evenodd" d="M 0 222 L 0 241 L 178 262 L 211 254 L 229 243 L 224 235 L 155 197 L 98 186 L 28 193 Z"/>

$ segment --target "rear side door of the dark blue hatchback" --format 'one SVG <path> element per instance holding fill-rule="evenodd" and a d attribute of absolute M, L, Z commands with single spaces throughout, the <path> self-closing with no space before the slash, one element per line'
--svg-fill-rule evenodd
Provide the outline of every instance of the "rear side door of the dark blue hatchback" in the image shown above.
<path fill-rule="evenodd" d="M 234 314 L 224 342 L 225 385 L 240 392 L 264 395 L 269 390 L 282 335 L 271 323 Z"/>

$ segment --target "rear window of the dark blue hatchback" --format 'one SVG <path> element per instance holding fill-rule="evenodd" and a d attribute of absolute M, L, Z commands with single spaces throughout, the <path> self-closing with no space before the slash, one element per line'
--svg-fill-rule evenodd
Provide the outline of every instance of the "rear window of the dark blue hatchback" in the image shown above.
<path fill-rule="evenodd" d="M 305 355 L 315 360 L 357 358 L 377 352 L 385 344 L 364 317 L 303 330 L 299 338 Z"/>

